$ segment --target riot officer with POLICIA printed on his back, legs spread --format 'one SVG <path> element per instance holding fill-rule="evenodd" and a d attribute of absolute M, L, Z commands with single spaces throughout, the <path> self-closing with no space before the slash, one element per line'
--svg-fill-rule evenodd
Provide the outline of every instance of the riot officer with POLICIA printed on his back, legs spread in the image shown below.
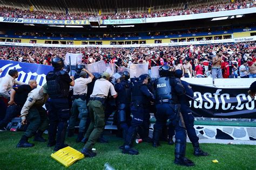
<path fill-rule="evenodd" d="M 160 78 L 155 82 L 156 89 L 156 124 L 153 132 L 153 146 L 159 145 L 159 137 L 167 119 L 175 126 L 175 160 L 178 165 L 193 166 L 191 160 L 185 158 L 186 153 L 186 129 L 183 117 L 180 114 L 178 96 L 185 94 L 184 86 L 180 79 L 174 77 L 174 67 L 161 66 Z"/>

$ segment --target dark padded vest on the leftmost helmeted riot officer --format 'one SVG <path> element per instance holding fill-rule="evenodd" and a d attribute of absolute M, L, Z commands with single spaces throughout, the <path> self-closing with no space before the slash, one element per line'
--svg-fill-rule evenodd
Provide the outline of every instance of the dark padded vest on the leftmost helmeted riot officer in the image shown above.
<path fill-rule="evenodd" d="M 60 83 L 60 75 L 68 74 L 63 70 L 51 71 L 46 75 L 46 83 L 48 86 L 48 94 L 50 98 L 68 97 L 69 90 L 65 90 Z"/>

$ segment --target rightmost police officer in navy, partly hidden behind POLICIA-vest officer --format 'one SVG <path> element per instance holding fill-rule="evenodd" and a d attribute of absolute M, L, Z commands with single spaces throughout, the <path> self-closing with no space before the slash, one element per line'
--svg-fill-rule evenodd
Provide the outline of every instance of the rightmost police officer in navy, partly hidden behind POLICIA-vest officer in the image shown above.
<path fill-rule="evenodd" d="M 175 75 L 177 78 L 180 79 L 182 76 L 182 71 L 180 69 L 176 70 Z M 190 141 L 194 147 L 194 155 L 207 156 L 208 153 L 204 152 L 199 147 L 199 138 L 197 137 L 196 130 L 194 129 L 194 116 L 192 115 L 192 112 L 190 110 L 190 101 L 191 101 L 191 98 L 193 98 L 194 96 L 194 92 L 189 83 L 183 80 L 181 80 L 181 83 L 185 88 L 186 94 L 180 96 L 180 102 L 181 102 L 180 111 L 186 126 L 187 136 L 188 138 L 190 138 Z M 190 96 L 191 98 L 188 96 Z"/>

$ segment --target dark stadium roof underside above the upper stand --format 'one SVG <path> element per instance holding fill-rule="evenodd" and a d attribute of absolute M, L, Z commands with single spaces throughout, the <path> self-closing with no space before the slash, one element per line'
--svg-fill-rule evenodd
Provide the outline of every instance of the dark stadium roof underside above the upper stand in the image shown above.
<path fill-rule="evenodd" d="M 46 12 L 105 13 L 152 12 L 227 3 L 227 0 L 0 0 L 5 7 Z"/>

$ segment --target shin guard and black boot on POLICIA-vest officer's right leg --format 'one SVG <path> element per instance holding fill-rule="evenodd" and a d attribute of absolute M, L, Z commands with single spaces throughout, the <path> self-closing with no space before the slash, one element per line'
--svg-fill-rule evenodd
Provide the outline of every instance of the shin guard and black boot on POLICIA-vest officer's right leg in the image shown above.
<path fill-rule="evenodd" d="M 185 158 L 186 153 L 186 141 L 181 143 L 180 139 L 175 141 L 175 160 L 174 164 L 183 165 L 183 166 L 194 166 L 194 162 Z"/>

